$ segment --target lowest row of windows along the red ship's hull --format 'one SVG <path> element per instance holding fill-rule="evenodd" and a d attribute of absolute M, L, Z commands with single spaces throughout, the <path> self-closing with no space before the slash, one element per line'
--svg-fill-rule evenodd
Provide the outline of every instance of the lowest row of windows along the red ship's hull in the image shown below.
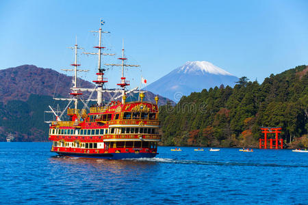
<path fill-rule="evenodd" d="M 157 142 L 154 141 L 108 141 L 106 142 L 106 148 L 157 148 Z M 64 142 L 64 141 L 53 141 L 53 146 L 64 147 L 64 148 L 86 148 L 86 149 L 97 149 L 104 148 L 104 143 L 79 143 Z"/>

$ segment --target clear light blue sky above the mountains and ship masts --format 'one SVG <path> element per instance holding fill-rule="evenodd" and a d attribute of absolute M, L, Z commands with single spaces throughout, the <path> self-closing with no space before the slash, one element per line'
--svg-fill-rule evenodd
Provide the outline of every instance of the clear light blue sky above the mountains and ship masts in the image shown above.
<path fill-rule="evenodd" d="M 69 68 L 75 36 L 93 52 L 105 20 L 104 43 L 120 55 L 122 39 L 129 63 L 140 64 L 149 83 L 186 61 L 210 61 L 237 77 L 260 83 L 308 64 L 308 1 L 0 1 L 0 69 L 34 64 Z M 106 57 L 105 63 L 117 63 Z M 80 55 L 89 81 L 97 57 Z M 61 71 L 63 72 L 63 71 Z M 65 73 L 65 72 L 64 72 Z M 127 77 L 140 84 L 140 69 Z M 120 69 L 106 73 L 115 87 Z"/>

